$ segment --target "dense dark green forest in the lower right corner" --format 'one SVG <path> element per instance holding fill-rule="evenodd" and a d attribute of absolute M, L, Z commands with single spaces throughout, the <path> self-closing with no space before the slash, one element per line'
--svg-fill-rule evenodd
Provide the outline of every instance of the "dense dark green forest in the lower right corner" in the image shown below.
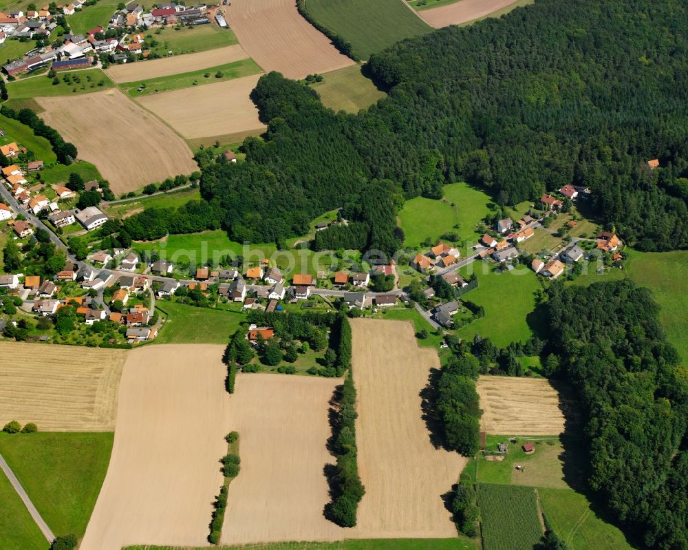
<path fill-rule="evenodd" d="M 688 379 L 629 279 L 548 290 L 555 376 L 579 393 L 590 487 L 649 548 L 688 548 Z"/>

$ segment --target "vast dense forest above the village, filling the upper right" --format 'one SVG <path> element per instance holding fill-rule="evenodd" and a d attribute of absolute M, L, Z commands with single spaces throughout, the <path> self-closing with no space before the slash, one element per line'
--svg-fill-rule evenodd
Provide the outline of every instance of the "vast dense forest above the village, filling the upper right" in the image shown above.
<path fill-rule="evenodd" d="M 356 115 L 267 74 L 252 92 L 264 139 L 244 141 L 245 162 L 200 160 L 205 221 L 237 242 L 279 242 L 342 207 L 350 224 L 319 231 L 315 248 L 390 253 L 403 201 L 440 198 L 447 182 L 501 205 L 574 183 L 628 244 L 685 248 L 687 36 L 688 6 L 674 0 L 544 0 L 374 54 L 366 70 L 389 97 Z M 200 221 L 144 211 L 132 237 L 174 232 L 184 215 Z"/>

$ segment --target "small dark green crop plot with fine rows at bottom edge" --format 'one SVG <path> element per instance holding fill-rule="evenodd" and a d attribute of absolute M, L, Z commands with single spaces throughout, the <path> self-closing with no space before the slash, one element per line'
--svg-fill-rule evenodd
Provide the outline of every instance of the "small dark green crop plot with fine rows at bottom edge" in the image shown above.
<path fill-rule="evenodd" d="M 484 550 L 533 550 L 543 534 L 533 487 L 478 485 Z"/>

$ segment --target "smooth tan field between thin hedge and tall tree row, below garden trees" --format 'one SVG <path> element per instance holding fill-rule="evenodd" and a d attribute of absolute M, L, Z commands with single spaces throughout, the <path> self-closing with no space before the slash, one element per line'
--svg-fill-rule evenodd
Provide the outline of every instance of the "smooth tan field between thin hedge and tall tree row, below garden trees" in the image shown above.
<path fill-rule="evenodd" d="M 325 519 L 329 401 L 341 379 L 239 374 L 230 399 L 241 472 L 229 486 L 224 544 L 341 540 Z"/>

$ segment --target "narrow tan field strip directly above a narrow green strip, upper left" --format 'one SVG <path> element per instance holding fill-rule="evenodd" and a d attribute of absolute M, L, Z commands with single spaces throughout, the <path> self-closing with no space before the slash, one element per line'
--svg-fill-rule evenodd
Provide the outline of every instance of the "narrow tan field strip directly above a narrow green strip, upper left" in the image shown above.
<path fill-rule="evenodd" d="M 110 65 L 105 71 L 107 76 L 116 83 L 147 80 L 148 78 L 160 78 L 172 74 L 217 67 L 225 63 L 232 63 L 240 59 L 246 59 L 248 55 L 239 44 L 218 47 L 208 52 L 196 54 L 175 55 L 163 59 L 151 59 L 142 63 L 125 63 L 124 65 Z"/>

